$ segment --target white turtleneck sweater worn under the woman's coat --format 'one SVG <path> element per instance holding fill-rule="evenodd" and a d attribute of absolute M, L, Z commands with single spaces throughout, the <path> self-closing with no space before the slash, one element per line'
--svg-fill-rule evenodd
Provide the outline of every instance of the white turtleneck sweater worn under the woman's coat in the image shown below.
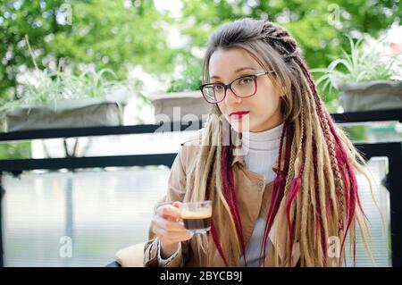
<path fill-rule="evenodd" d="M 275 172 L 272 171 L 272 165 L 279 153 L 281 132 L 283 123 L 271 130 L 259 132 L 243 132 L 242 133 L 242 148 L 244 150 L 244 160 L 247 171 L 257 172 L 264 175 L 265 184 L 271 182 L 275 178 Z M 259 265 L 259 256 L 261 242 L 264 235 L 265 217 L 259 216 L 255 222 L 255 228 L 251 238 L 246 245 L 247 266 L 255 267 Z M 180 252 L 180 247 L 177 252 L 167 259 L 160 256 L 160 245 L 158 244 L 158 262 L 159 265 L 167 265 L 174 256 Z M 269 249 L 269 239 L 266 244 Z M 240 257 L 240 265 L 245 266 L 243 256 Z"/>

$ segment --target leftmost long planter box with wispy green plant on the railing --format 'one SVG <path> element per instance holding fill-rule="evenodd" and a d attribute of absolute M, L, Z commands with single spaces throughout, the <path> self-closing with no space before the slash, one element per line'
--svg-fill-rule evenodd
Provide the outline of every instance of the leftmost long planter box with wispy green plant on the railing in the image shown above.
<path fill-rule="evenodd" d="M 29 42 L 27 40 L 28 46 Z M 40 71 L 21 85 L 21 96 L 0 105 L 6 131 L 114 126 L 123 123 L 129 86 L 109 69 Z"/>

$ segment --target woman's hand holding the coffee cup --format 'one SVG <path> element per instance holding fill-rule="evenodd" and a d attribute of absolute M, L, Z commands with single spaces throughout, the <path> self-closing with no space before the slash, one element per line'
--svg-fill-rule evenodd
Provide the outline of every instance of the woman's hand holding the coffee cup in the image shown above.
<path fill-rule="evenodd" d="M 173 205 L 161 205 L 156 209 L 152 219 L 152 231 L 161 243 L 161 257 L 172 256 L 180 246 L 180 241 L 188 240 L 193 234 L 186 231 L 184 224 L 180 222 L 180 202 Z"/>

